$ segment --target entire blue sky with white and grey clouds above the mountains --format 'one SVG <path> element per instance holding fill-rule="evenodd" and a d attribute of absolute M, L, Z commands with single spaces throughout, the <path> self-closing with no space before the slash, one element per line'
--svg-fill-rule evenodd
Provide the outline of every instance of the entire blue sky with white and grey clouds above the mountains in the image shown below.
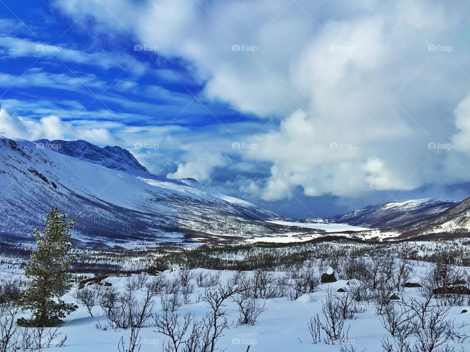
<path fill-rule="evenodd" d="M 470 3 L 0 0 L 0 134 L 297 218 L 470 195 Z"/>

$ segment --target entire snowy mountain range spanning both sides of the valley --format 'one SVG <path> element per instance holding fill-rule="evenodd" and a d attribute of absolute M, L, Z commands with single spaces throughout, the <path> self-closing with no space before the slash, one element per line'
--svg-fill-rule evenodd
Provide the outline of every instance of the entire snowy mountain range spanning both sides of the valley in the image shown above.
<path fill-rule="evenodd" d="M 192 178 L 153 175 L 129 151 L 84 140 L 0 137 L 0 197 L 2 247 L 30 245 L 28 234 L 54 206 L 77 218 L 73 241 L 97 248 L 301 241 L 326 233 L 370 238 L 377 231 L 396 238 L 470 228 L 468 199 L 371 205 L 328 219 L 287 218 Z"/>

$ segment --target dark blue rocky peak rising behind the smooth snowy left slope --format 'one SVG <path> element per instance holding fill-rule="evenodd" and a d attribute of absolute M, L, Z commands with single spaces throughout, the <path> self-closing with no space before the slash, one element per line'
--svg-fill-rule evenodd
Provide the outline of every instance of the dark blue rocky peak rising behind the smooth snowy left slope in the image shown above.
<path fill-rule="evenodd" d="M 45 149 L 91 162 L 108 169 L 127 171 L 129 169 L 148 170 L 128 150 L 119 146 L 98 147 L 82 139 L 76 141 L 39 139 L 34 141 Z"/>

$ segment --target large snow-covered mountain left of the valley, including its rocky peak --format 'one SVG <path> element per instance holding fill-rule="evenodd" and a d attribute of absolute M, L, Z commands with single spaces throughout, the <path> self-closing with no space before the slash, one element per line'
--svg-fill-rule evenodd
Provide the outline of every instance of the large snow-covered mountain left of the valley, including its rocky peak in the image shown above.
<path fill-rule="evenodd" d="M 85 141 L 0 137 L 0 197 L 3 249 L 31 243 L 28 234 L 54 206 L 77 218 L 73 240 L 89 247 L 238 242 L 290 231 L 268 222 L 283 219 L 277 214 L 193 179 L 157 177 L 128 151 Z"/>

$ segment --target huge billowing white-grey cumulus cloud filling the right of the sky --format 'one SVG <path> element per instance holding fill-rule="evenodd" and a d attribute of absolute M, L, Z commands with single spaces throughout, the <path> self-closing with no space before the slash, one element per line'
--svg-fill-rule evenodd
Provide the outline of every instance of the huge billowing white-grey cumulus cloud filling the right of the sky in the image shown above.
<path fill-rule="evenodd" d="M 462 71 L 470 72 L 470 4 L 455 3 L 67 0 L 55 6 L 73 20 L 85 12 L 94 17 L 92 30 L 130 29 L 142 44 L 158 45 L 161 57 L 182 58 L 207 83 L 206 98 L 277 121 L 275 130 L 245 132 L 258 148 L 240 155 L 270 165 L 259 192 L 278 200 L 299 187 L 306 196 L 353 197 L 469 180 L 455 170 L 468 165 L 470 98 Z M 451 142 L 453 150 L 432 148 Z M 169 176 L 205 180 L 223 164 L 222 155 L 186 155 Z"/>

